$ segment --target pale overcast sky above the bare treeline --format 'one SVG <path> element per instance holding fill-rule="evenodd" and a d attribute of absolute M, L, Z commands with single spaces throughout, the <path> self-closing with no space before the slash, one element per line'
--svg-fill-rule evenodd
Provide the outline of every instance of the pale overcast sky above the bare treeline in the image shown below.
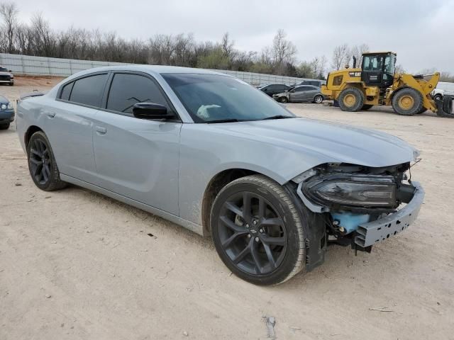
<path fill-rule="evenodd" d="M 239 50 L 260 51 L 283 28 L 299 60 L 333 47 L 367 43 L 370 50 L 397 52 L 407 72 L 436 67 L 454 74 L 454 0 L 16 0 L 20 19 L 40 11 L 55 30 L 100 28 L 123 38 L 156 33 L 194 33 L 220 40 L 228 32 Z"/>

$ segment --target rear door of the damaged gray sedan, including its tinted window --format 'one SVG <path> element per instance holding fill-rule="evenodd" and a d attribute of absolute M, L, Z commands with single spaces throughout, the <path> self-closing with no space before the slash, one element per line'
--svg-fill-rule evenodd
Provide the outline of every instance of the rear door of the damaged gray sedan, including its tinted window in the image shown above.
<path fill-rule="evenodd" d="M 46 108 L 46 134 L 62 174 L 87 182 L 96 178 L 92 132 L 107 79 L 104 72 L 70 81 Z"/>

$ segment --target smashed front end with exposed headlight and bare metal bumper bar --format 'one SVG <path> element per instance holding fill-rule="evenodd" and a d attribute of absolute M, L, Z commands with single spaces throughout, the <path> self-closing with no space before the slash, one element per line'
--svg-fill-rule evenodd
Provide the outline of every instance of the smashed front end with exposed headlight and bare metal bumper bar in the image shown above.
<path fill-rule="evenodd" d="M 409 227 L 419 213 L 424 191 L 411 181 L 410 168 L 409 162 L 380 168 L 323 164 L 292 181 L 306 208 L 323 217 L 323 244 L 370 252 L 373 244 Z"/>

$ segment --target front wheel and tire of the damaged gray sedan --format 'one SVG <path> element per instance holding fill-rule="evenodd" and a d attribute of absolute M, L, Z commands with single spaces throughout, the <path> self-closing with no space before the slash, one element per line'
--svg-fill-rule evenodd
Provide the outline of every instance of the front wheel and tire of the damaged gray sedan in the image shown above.
<path fill-rule="evenodd" d="M 245 202 L 250 207 L 246 211 Z M 210 215 L 221 260 L 236 276 L 256 285 L 283 283 L 304 268 L 303 223 L 284 188 L 262 175 L 228 183 Z"/>

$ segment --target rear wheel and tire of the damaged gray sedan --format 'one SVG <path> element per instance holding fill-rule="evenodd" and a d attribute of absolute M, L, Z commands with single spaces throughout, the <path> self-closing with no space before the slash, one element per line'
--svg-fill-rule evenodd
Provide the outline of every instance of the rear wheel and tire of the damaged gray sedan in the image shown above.
<path fill-rule="evenodd" d="M 44 132 L 35 132 L 30 137 L 27 145 L 27 158 L 30 176 L 38 188 L 43 191 L 65 188 L 66 183 L 60 180 L 60 171 L 58 171 L 52 147 Z"/>

